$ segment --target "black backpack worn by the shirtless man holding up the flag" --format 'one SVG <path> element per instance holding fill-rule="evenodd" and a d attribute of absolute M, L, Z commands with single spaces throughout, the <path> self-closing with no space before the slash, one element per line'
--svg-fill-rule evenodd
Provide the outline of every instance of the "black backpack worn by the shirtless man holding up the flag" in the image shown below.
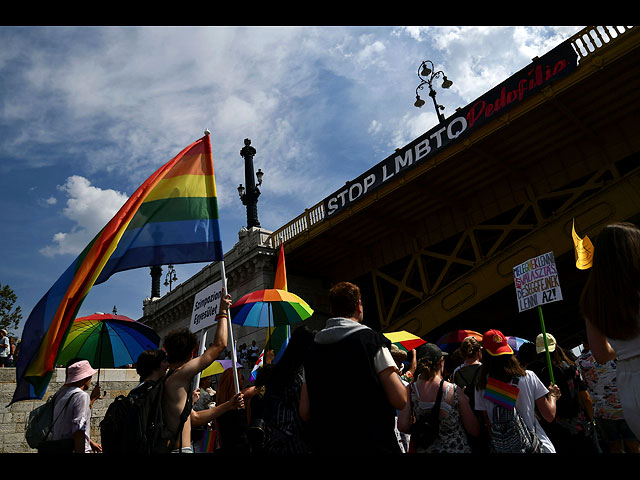
<path fill-rule="evenodd" d="M 167 377 L 144 382 L 109 405 L 100 422 L 104 453 L 151 454 L 173 450 L 180 432 L 169 431 L 163 418 L 162 393 Z"/>

